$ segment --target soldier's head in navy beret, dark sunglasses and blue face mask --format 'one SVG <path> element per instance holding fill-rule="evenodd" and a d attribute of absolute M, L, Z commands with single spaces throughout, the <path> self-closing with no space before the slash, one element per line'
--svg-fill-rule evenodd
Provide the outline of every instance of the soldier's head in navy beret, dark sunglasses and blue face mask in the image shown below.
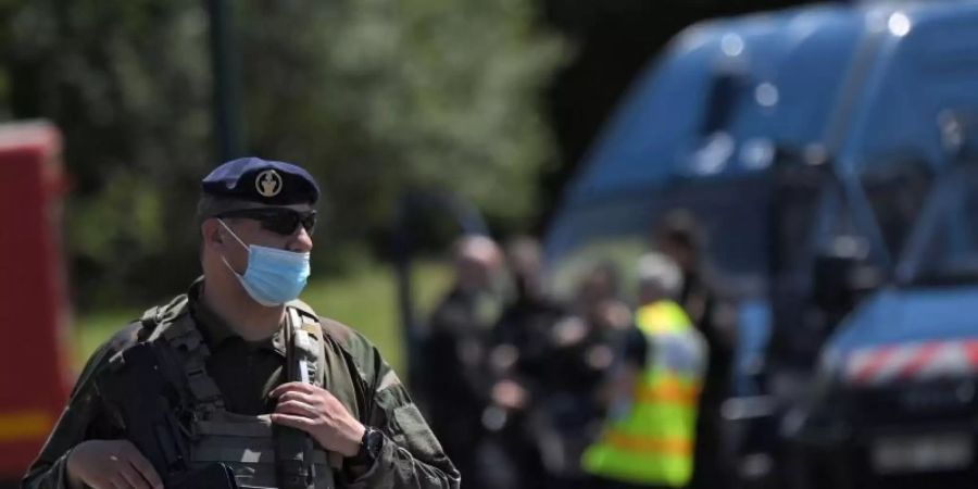
<path fill-rule="evenodd" d="M 206 287 L 266 306 L 294 299 L 309 275 L 318 198 L 312 175 L 289 163 L 242 158 L 211 172 L 197 208 Z"/>

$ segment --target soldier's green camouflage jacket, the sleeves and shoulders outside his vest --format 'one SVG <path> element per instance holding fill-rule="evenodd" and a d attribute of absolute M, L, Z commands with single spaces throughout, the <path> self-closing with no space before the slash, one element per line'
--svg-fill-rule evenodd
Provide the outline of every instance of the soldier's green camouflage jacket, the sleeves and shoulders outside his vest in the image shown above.
<path fill-rule="evenodd" d="M 191 287 L 191 299 L 195 288 Z M 167 314 L 187 314 L 186 296 L 176 298 Z M 195 316 L 195 319 L 197 317 Z M 198 324 L 198 328 L 203 328 Z M 326 376 L 351 381 L 327 385 L 330 392 L 364 425 L 380 429 L 386 440 L 376 463 L 363 474 L 341 471 L 344 488 L 457 488 L 459 472 L 446 456 L 422 414 L 391 367 L 362 335 L 335 321 L 321 318 L 325 331 Z M 25 489 L 67 488 L 71 450 L 88 439 L 123 438 L 95 386 L 109 360 L 151 334 L 136 322 L 102 344 L 88 360 L 53 431 L 24 477 Z M 222 387 L 223 386 L 218 386 Z"/>

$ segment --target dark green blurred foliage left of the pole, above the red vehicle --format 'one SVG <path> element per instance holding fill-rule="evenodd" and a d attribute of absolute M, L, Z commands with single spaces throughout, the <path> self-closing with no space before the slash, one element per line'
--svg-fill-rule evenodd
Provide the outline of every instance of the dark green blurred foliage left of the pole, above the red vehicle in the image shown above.
<path fill-rule="evenodd" d="M 78 305 L 186 284 L 190 267 L 173 263 L 192 256 L 187 216 L 210 137 L 199 2 L 5 7 L 7 106 L 16 117 L 54 121 L 64 136 L 65 236 Z"/>

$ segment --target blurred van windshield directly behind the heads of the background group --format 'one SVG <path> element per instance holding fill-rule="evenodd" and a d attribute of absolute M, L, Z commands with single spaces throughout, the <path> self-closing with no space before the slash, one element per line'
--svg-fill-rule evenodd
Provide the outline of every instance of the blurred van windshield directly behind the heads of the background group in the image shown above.
<path fill-rule="evenodd" d="M 561 238 L 575 246 L 552 256 L 549 283 L 561 297 L 574 294 L 587 272 L 605 263 L 618 272 L 624 299 L 634 299 L 635 265 L 651 250 L 656 222 L 669 211 L 691 213 L 704 238 L 704 265 L 723 289 L 738 294 L 765 287 L 769 180 L 764 176 L 737 181 L 678 185 L 655 203 L 620 199 L 573 213 Z M 648 201 L 647 201 L 648 202 Z"/>

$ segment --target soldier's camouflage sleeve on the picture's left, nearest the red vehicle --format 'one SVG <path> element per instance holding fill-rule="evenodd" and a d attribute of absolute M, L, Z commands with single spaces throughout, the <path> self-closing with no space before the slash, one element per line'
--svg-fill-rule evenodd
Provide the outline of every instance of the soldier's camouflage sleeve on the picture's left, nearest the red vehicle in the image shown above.
<path fill-rule="evenodd" d="M 67 489 L 67 457 L 72 449 L 113 429 L 95 388 L 96 374 L 112 356 L 113 347 L 113 341 L 106 342 L 88 359 L 72 389 L 67 406 L 21 481 L 22 489 Z"/>

